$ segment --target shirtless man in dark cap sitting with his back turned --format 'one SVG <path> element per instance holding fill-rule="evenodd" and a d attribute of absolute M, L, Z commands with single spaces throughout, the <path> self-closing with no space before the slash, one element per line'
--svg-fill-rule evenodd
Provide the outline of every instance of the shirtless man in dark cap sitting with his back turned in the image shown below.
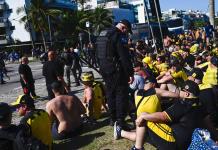
<path fill-rule="evenodd" d="M 55 98 L 46 104 L 52 125 L 52 136 L 54 140 L 61 140 L 79 134 L 82 128 L 81 114 L 85 108 L 76 96 L 64 95 L 61 81 L 51 84 Z"/>

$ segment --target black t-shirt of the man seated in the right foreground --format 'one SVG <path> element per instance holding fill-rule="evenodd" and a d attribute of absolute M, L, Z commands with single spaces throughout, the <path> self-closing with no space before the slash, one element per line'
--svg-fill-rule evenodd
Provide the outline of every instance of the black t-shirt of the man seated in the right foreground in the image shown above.
<path fill-rule="evenodd" d="M 170 126 L 178 147 L 187 149 L 191 142 L 192 133 L 202 119 L 202 108 L 193 100 L 189 102 L 178 100 L 165 112 L 171 118 Z"/>

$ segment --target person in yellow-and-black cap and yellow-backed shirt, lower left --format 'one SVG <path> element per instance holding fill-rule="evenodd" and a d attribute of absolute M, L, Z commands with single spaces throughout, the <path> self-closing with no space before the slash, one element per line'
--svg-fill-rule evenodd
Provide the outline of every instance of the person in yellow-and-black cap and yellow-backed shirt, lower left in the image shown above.
<path fill-rule="evenodd" d="M 29 95 L 20 95 L 11 103 L 23 118 L 20 124 L 28 124 L 31 135 L 40 140 L 47 148 L 52 148 L 51 122 L 48 113 L 42 109 L 35 109 L 34 100 Z"/>

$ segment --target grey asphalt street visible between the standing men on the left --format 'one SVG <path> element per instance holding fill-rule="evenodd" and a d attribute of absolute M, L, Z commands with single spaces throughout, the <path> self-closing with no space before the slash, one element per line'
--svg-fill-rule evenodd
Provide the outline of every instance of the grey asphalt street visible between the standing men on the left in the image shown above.
<path fill-rule="evenodd" d="M 45 109 L 47 99 L 47 90 L 45 85 L 45 78 L 42 76 L 42 64 L 40 62 L 30 62 L 29 66 L 32 70 L 33 77 L 35 79 L 35 89 L 36 94 L 40 96 L 37 100 L 35 100 L 36 108 Z M 7 82 L 6 84 L 0 84 L 0 102 L 6 102 L 10 104 L 14 102 L 17 97 L 23 94 L 21 85 L 20 85 L 20 76 L 18 74 L 19 63 L 9 63 L 6 64 L 6 68 L 8 70 L 8 75 L 10 76 L 10 80 L 7 77 L 4 80 Z M 82 68 L 83 72 L 93 71 L 88 67 Z M 93 71 L 94 76 L 97 80 L 101 80 L 100 75 Z M 66 81 L 66 80 L 65 80 Z M 74 78 L 71 75 L 71 94 L 75 94 L 80 99 L 83 97 L 83 85 L 75 86 Z M 14 114 L 15 115 L 15 114 Z M 17 123 L 18 117 L 13 117 L 13 122 Z"/>

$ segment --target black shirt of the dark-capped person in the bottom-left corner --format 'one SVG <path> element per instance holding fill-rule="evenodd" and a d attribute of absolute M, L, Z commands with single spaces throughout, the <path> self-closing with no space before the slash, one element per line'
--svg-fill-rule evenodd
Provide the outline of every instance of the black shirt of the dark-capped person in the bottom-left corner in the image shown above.
<path fill-rule="evenodd" d="M 0 150 L 13 150 L 13 141 L 7 139 L 4 134 L 15 138 L 19 130 L 20 127 L 15 125 L 10 125 L 7 128 L 0 129 Z M 3 138 L 2 136 L 4 136 L 5 138 Z"/>

